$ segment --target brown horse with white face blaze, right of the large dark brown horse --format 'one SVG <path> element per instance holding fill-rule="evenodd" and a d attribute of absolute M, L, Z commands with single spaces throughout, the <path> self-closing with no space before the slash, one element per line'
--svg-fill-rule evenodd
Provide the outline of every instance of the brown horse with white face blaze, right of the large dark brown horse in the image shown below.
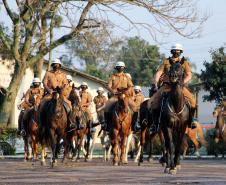
<path fill-rule="evenodd" d="M 72 122 L 76 123 L 76 125 L 74 129 L 71 129 L 67 132 L 63 161 L 66 159 L 70 147 L 72 149 L 72 161 L 79 161 L 80 152 L 83 147 L 85 137 L 87 139 L 87 142 L 85 143 L 85 161 L 87 161 L 89 157 L 89 145 L 91 137 L 88 124 L 89 119 L 88 115 L 86 115 L 86 113 L 81 109 L 81 99 L 79 96 L 79 91 L 76 87 L 72 87 L 72 91 L 69 95 L 69 100 L 72 103 L 72 114 L 70 115 L 70 119 L 72 120 Z M 82 128 L 78 128 L 79 126 L 82 126 Z"/>

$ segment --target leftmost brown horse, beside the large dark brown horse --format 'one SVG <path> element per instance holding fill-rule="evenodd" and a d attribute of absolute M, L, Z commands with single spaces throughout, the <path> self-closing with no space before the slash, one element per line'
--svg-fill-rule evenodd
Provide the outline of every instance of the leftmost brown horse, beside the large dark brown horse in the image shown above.
<path fill-rule="evenodd" d="M 37 131 L 38 131 L 38 108 L 41 102 L 41 98 L 39 95 L 34 94 L 31 98 L 31 104 L 33 105 L 30 109 L 23 114 L 24 129 L 26 134 L 23 135 L 24 140 L 24 160 L 27 161 L 29 159 L 29 144 L 32 149 L 33 161 L 38 159 L 38 144 L 37 144 Z"/>

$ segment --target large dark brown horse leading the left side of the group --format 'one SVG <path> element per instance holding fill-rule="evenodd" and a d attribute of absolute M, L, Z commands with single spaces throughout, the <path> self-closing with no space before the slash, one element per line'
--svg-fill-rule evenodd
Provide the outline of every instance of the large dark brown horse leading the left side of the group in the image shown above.
<path fill-rule="evenodd" d="M 41 164 L 45 165 L 45 146 L 51 148 L 52 158 L 50 161 L 51 167 L 56 166 L 60 140 L 66 137 L 68 130 L 68 117 L 65 108 L 65 101 L 62 95 L 62 89 L 56 87 L 53 90 L 52 96 L 45 99 L 41 103 L 39 109 L 39 142 L 42 145 Z M 47 95 L 48 96 L 48 95 Z M 44 100 L 43 99 L 43 100 Z"/>

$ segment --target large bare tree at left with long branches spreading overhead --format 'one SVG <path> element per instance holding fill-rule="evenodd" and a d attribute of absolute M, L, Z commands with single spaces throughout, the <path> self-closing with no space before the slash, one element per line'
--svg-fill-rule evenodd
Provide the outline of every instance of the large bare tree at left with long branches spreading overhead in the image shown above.
<path fill-rule="evenodd" d="M 11 20 L 11 37 L 9 38 L 0 29 L 0 40 L 12 54 L 15 65 L 8 93 L 0 105 L 0 123 L 10 122 L 11 107 L 15 102 L 26 69 L 39 62 L 52 49 L 78 37 L 84 29 L 95 28 L 95 22 L 108 19 L 109 10 L 111 13 L 113 11 L 124 17 L 136 28 L 143 26 L 148 29 L 153 38 L 157 33 L 172 30 L 186 37 L 197 36 L 197 31 L 206 20 L 205 17 L 204 19 L 197 17 L 197 10 L 194 8 L 196 6 L 195 0 L 164 0 L 161 2 L 143 0 L 125 0 L 123 2 L 119 0 L 15 0 L 13 6 L 8 2 L 1 0 L 0 6 L 4 7 Z M 138 6 L 148 10 L 156 22 L 148 24 L 131 20 L 121 11 L 125 5 Z M 61 28 L 65 28 L 66 31 L 63 30 L 60 36 L 55 35 L 52 42 L 49 42 L 50 23 L 55 17 L 48 15 L 53 12 L 64 17 Z M 108 19 L 108 21 L 110 20 Z M 190 23 L 194 23 L 194 27 L 192 27 L 191 32 L 187 32 L 186 28 Z M 37 38 L 38 35 L 40 36 Z"/>

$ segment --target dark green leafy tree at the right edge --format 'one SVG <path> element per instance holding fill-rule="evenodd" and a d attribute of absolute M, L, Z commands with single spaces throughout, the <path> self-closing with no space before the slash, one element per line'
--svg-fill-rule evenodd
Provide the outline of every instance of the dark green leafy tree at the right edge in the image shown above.
<path fill-rule="evenodd" d="M 201 80 L 208 95 L 203 98 L 206 101 L 221 102 L 226 97 L 226 54 L 225 47 L 212 50 L 212 62 L 205 62 L 205 70 L 201 71 Z"/>

